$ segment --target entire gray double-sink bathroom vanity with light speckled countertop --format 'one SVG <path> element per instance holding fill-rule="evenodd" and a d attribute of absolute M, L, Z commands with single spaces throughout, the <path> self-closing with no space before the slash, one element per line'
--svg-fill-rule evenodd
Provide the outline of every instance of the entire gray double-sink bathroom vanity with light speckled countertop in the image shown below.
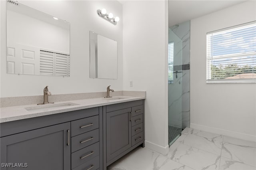
<path fill-rule="evenodd" d="M 84 99 L 28 111 L 24 106 L 1 108 L 1 163 L 13 163 L 8 169 L 19 163 L 27 170 L 106 170 L 144 147 L 144 99 Z"/>

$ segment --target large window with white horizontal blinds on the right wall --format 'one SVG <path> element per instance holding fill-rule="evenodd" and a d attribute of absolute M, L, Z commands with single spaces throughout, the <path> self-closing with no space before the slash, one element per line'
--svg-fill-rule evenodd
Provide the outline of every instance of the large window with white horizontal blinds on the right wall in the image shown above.
<path fill-rule="evenodd" d="M 256 83 L 256 22 L 207 33 L 207 83 Z"/>

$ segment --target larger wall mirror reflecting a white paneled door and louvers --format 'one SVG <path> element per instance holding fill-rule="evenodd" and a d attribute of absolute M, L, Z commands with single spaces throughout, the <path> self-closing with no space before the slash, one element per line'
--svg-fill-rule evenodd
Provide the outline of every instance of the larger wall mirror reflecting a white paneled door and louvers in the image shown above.
<path fill-rule="evenodd" d="M 70 24 L 23 4 L 6 4 L 7 73 L 70 75 Z"/>

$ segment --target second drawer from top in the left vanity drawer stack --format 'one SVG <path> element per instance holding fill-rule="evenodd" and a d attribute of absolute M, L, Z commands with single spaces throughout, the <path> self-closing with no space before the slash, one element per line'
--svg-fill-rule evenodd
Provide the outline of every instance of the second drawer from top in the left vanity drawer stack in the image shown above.
<path fill-rule="evenodd" d="M 99 141 L 99 129 L 79 134 L 71 138 L 71 152 L 75 152 Z"/>

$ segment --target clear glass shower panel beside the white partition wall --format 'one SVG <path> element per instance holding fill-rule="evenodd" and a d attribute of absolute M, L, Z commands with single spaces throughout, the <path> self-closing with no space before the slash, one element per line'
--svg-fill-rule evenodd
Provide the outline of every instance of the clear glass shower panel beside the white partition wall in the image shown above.
<path fill-rule="evenodd" d="M 168 143 L 182 132 L 182 40 L 169 28 L 168 34 Z"/>

